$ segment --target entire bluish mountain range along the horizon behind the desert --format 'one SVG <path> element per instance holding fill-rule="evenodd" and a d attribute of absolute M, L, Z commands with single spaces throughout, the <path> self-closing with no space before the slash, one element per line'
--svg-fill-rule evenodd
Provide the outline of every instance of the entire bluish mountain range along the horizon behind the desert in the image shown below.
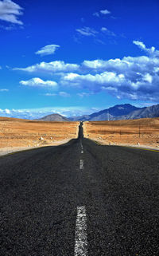
<path fill-rule="evenodd" d="M 102 121 L 102 120 L 130 120 L 139 118 L 159 117 L 159 104 L 151 107 L 137 108 L 131 104 L 118 104 L 91 115 L 66 118 L 59 114 L 44 116 L 41 121 Z"/>

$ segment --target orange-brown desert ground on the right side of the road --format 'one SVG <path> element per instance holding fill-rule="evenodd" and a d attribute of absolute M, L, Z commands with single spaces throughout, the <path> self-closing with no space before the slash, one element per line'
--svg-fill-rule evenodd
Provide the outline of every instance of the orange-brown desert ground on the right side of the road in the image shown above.
<path fill-rule="evenodd" d="M 84 136 L 101 144 L 159 148 L 159 118 L 85 122 Z"/>

